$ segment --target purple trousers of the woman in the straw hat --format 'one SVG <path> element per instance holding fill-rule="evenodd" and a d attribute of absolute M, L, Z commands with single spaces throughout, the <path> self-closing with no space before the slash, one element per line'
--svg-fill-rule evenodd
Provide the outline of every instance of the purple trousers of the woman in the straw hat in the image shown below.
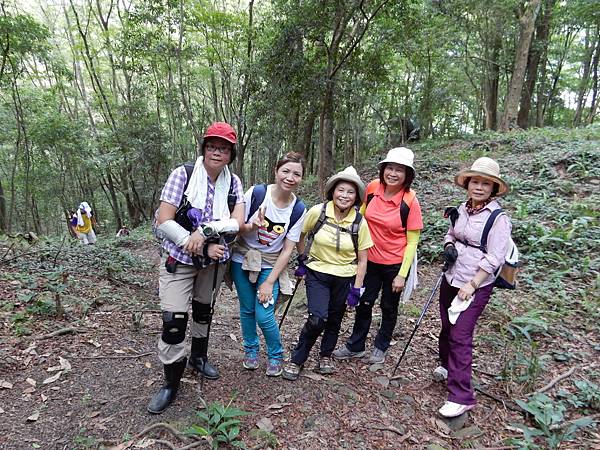
<path fill-rule="evenodd" d="M 448 308 L 458 294 L 458 288 L 448 284 L 446 277 L 440 287 L 440 317 L 442 330 L 439 337 L 439 355 L 442 366 L 448 370 L 448 401 L 461 405 L 477 403 L 471 387 L 471 362 L 473 361 L 473 332 L 477 319 L 483 312 L 494 283 L 475 291 L 473 303 L 458 316 L 456 324 L 448 320 Z"/>

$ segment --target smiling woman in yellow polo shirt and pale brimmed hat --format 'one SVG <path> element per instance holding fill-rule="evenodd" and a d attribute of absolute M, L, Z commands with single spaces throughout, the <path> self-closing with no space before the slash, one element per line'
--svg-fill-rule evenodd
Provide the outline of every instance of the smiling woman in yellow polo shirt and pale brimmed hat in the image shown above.
<path fill-rule="evenodd" d="M 357 208 L 365 185 L 354 167 L 329 178 L 325 192 L 328 201 L 308 211 L 298 243 L 299 267 L 295 275 L 306 276 L 308 319 L 290 362 L 283 369 L 283 377 L 288 380 L 298 378 L 321 334 L 318 370 L 321 374 L 334 371 L 331 353 L 337 344 L 346 305 L 358 304 L 367 268 L 367 249 L 373 245 L 367 223 Z"/>

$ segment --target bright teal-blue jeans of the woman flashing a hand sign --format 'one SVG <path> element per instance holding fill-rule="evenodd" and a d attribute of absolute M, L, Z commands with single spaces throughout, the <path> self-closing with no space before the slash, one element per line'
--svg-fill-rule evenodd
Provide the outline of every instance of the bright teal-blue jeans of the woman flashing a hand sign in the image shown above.
<path fill-rule="evenodd" d="M 267 279 L 272 269 L 262 269 L 256 283 L 248 279 L 248 271 L 242 270 L 242 264 L 231 262 L 231 277 L 235 283 L 238 299 L 240 301 L 240 323 L 242 337 L 244 338 L 244 351 L 246 355 L 257 356 L 260 348 L 256 325 L 260 327 L 267 344 L 269 359 L 283 359 L 283 346 L 279 327 L 275 320 L 275 304 L 265 308 L 258 302 L 256 291 L 263 281 Z M 279 297 L 279 282 L 273 285 L 273 298 L 277 303 Z"/>

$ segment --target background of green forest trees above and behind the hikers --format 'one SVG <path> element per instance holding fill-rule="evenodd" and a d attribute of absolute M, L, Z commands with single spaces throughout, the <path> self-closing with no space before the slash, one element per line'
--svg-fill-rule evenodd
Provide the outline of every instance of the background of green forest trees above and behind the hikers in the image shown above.
<path fill-rule="evenodd" d="M 321 184 L 404 143 L 597 116 L 592 0 L 0 2 L 0 231 L 62 231 L 81 200 L 152 217 L 213 121 L 234 171 L 299 151 Z"/>

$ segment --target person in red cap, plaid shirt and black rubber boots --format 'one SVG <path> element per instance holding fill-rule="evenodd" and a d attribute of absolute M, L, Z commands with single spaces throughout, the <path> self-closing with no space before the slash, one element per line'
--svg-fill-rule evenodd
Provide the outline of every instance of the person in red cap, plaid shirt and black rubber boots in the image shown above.
<path fill-rule="evenodd" d="M 162 413 L 175 399 L 186 365 L 204 378 L 219 377 L 208 361 L 208 333 L 213 296 L 229 259 L 223 236 L 237 233 L 244 223 L 242 182 L 227 167 L 235 159 L 236 143 L 231 125 L 210 125 L 193 167 L 185 164 L 173 170 L 160 196 L 156 231 L 162 238 L 159 296 L 163 331 L 158 357 L 164 365 L 165 384 L 148 405 L 153 414 Z M 190 300 L 188 362 L 185 336 Z"/>

